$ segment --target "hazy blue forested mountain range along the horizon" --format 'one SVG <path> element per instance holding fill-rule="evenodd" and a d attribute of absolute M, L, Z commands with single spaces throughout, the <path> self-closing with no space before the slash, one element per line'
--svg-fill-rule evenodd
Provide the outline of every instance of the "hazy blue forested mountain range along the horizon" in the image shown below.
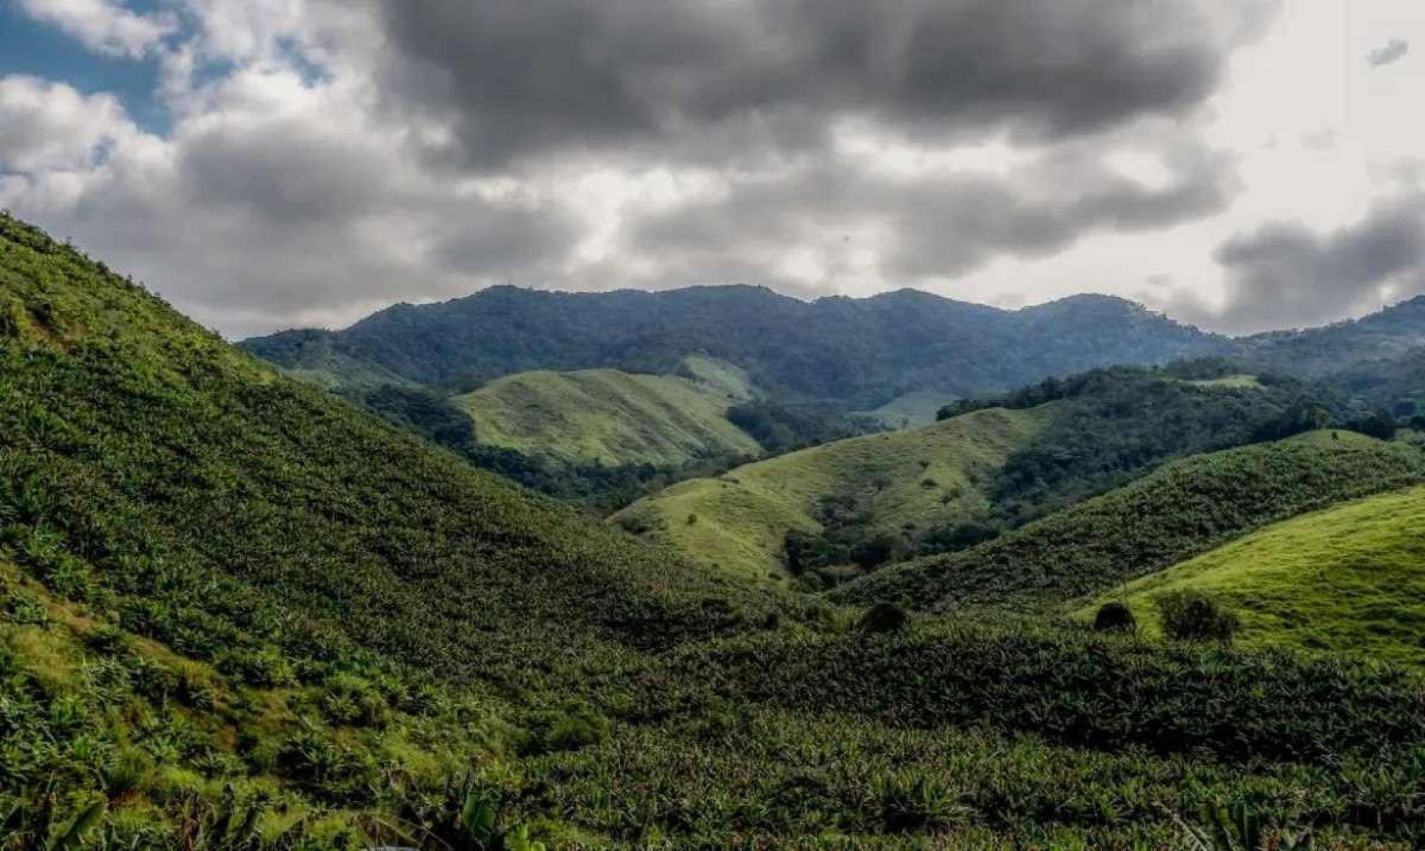
<path fill-rule="evenodd" d="M 755 287 L 494 287 L 398 305 L 345 331 L 289 331 L 242 345 L 288 369 L 353 381 L 393 373 L 425 385 L 534 369 L 673 372 L 703 352 L 770 392 L 874 409 L 912 391 L 962 396 L 1107 363 L 1220 354 L 1226 341 L 1109 296 L 1002 311 L 912 289 L 808 304 Z"/>

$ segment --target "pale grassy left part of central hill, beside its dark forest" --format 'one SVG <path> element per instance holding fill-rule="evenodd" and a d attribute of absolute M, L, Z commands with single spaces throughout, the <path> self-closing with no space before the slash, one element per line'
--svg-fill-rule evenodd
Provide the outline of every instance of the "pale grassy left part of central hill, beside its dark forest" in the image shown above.
<path fill-rule="evenodd" d="M 730 574 L 779 576 L 787 533 L 821 530 L 828 497 L 852 499 L 869 530 L 891 535 L 986 513 L 995 472 L 1049 416 L 1049 408 L 983 411 L 838 440 L 681 482 L 614 522 Z"/>

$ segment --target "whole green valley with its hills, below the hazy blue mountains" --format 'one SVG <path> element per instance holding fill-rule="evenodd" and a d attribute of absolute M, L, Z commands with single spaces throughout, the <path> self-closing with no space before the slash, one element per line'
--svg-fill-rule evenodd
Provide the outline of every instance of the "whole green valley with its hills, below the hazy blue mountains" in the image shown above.
<path fill-rule="evenodd" d="M 7 847 L 1425 838 L 1425 453 L 1345 382 L 1113 366 L 862 435 L 687 352 L 323 388 L 10 217 L 0 308 Z M 482 432 L 777 455 L 603 520 Z M 1160 634 L 1188 586 L 1238 641 Z"/>

